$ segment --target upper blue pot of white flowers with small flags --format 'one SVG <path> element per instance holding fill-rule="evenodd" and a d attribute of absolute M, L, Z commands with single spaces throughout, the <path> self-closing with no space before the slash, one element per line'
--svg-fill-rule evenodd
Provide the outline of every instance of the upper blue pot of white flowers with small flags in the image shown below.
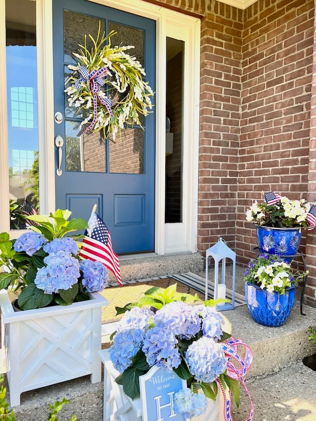
<path fill-rule="evenodd" d="M 246 220 L 257 225 L 257 244 L 261 253 L 293 256 L 298 251 L 302 229 L 315 226 L 315 206 L 301 200 L 289 200 L 274 192 L 255 201 L 246 211 Z"/>

